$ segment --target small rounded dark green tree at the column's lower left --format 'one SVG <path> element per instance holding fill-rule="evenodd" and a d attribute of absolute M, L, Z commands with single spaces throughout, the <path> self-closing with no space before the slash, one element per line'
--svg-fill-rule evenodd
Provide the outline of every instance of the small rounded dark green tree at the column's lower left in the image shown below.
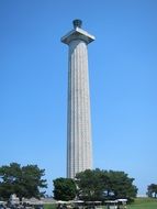
<path fill-rule="evenodd" d="M 77 195 L 75 180 L 70 178 L 56 178 L 54 182 L 54 198 L 56 200 L 71 200 Z"/>

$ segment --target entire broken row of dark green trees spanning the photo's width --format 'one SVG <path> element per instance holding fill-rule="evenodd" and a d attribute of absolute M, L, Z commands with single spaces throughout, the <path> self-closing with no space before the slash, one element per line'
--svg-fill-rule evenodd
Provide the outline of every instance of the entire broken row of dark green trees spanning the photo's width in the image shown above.
<path fill-rule="evenodd" d="M 7 200 L 12 194 L 22 199 L 41 198 L 45 196 L 47 180 L 45 169 L 37 165 L 21 166 L 18 163 L 0 167 L 0 200 Z M 126 198 L 133 200 L 137 195 L 134 178 L 124 172 L 87 169 L 76 175 L 75 179 L 57 178 L 54 182 L 54 198 L 56 200 L 108 200 Z M 157 185 L 147 189 L 148 197 L 157 197 Z"/>

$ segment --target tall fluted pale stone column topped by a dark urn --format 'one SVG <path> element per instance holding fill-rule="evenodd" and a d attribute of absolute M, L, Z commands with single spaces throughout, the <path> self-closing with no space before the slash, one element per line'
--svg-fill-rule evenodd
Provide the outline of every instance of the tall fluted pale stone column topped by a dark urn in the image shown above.
<path fill-rule="evenodd" d="M 92 141 L 87 45 L 94 40 L 74 21 L 74 30 L 61 37 L 69 46 L 68 116 L 67 116 L 67 177 L 92 168 Z"/>

